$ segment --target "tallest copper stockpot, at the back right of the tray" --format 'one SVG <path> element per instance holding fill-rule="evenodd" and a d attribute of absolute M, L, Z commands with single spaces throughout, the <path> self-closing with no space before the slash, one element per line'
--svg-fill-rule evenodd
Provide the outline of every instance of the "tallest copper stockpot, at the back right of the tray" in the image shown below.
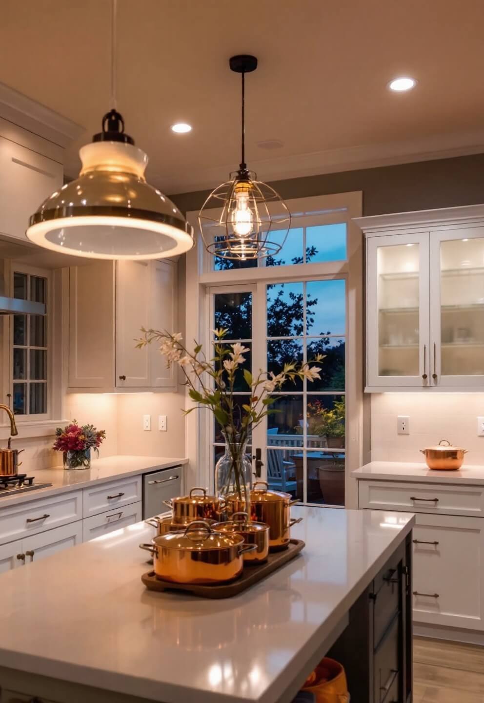
<path fill-rule="evenodd" d="M 256 486 L 263 486 L 257 489 Z M 291 520 L 290 509 L 294 503 L 291 494 L 282 491 L 269 491 L 266 481 L 256 481 L 250 492 L 250 515 L 254 522 L 265 522 L 270 527 L 269 550 L 275 552 L 285 549 L 291 538 L 291 527 L 301 522 L 302 517 Z M 244 507 L 237 496 L 228 496 L 228 514 L 240 512 Z"/>

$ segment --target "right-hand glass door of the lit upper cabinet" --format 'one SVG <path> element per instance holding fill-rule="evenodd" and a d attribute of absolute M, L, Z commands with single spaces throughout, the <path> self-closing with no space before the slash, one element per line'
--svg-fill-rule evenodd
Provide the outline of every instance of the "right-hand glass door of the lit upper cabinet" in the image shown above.
<path fill-rule="evenodd" d="M 484 387 L 484 227 L 432 233 L 431 338 L 432 385 Z"/>

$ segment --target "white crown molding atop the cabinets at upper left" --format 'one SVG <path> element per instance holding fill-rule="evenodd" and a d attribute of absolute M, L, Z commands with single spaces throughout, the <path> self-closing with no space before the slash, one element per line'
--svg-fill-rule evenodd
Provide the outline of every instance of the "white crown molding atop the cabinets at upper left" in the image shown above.
<path fill-rule="evenodd" d="M 0 83 L 0 116 L 58 146 L 66 147 L 84 131 L 76 122 Z"/>

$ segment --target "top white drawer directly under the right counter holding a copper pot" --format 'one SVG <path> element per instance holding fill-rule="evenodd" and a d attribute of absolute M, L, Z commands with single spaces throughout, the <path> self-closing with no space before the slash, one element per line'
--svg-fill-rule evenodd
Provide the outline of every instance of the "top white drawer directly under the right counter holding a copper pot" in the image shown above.
<path fill-rule="evenodd" d="M 480 486 L 358 481 L 358 506 L 372 510 L 484 517 L 484 489 Z"/>

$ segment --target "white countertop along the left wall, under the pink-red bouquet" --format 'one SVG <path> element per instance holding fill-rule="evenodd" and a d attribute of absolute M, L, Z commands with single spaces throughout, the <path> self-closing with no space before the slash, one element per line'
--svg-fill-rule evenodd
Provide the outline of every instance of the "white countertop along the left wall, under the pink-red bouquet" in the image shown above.
<path fill-rule="evenodd" d="M 166 456 L 108 456 L 102 459 L 93 459 L 90 469 L 40 469 L 30 472 L 34 475 L 37 483 L 48 482 L 52 486 L 25 491 L 13 496 L 2 496 L 0 494 L 1 508 L 10 507 L 14 503 L 25 503 L 35 501 L 37 498 L 45 498 L 62 491 L 75 491 L 86 488 L 96 483 L 106 483 L 117 478 L 128 478 L 138 474 L 145 474 L 150 471 L 169 468 L 188 463 L 185 458 L 168 458 Z"/>

